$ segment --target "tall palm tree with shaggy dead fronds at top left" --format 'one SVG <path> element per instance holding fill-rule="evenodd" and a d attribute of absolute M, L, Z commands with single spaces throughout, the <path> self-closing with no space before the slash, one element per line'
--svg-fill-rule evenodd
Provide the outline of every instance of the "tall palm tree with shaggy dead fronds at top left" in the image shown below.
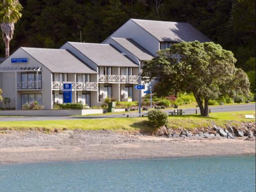
<path fill-rule="evenodd" d="M 5 57 L 9 57 L 9 43 L 13 37 L 14 24 L 21 17 L 22 6 L 18 0 L 1 0 L 0 26 L 5 43 Z"/>

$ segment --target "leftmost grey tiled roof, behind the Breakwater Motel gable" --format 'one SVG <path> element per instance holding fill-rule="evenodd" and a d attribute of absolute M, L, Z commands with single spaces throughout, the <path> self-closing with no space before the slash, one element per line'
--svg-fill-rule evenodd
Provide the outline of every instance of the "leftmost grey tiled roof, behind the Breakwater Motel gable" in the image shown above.
<path fill-rule="evenodd" d="M 88 73 L 94 71 L 84 62 L 65 49 L 30 48 L 21 47 L 39 63 L 48 68 L 51 72 L 59 73 Z"/>

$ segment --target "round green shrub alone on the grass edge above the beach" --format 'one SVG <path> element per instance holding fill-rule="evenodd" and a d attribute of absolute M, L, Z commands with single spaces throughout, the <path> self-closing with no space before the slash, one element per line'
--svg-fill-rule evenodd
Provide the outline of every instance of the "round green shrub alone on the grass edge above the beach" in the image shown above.
<path fill-rule="evenodd" d="M 161 127 L 168 123 L 168 115 L 161 110 L 151 110 L 148 112 L 148 120 L 151 125 Z"/>

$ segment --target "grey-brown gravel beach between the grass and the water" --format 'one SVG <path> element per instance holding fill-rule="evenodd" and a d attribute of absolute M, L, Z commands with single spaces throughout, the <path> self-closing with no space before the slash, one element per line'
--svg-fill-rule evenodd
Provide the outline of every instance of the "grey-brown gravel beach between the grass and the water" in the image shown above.
<path fill-rule="evenodd" d="M 255 154 L 255 140 L 181 139 L 112 131 L 7 131 L 0 134 L 0 164 L 153 157 Z"/>

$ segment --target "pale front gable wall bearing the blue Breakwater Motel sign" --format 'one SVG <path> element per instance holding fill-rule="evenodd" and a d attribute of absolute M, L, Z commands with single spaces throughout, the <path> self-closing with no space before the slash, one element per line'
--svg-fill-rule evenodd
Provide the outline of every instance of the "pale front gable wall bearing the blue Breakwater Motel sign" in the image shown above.
<path fill-rule="evenodd" d="M 11 58 L 28 58 L 28 63 L 11 63 Z M 41 67 L 42 74 L 42 90 L 32 90 L 29 93 L 42 93 L 42 105 L 45 109 L 51 109 L 51 71 L 45 66 L 40 64 L 37 60 L 27 54 L 22 48 L 19 48 L 11 56 L 9 56 L 4 62 L 1 63 L 1 67 Z M 24 71 L 25 72 L 25 71 Z M 35 71 L 36 72 L 36 71 Z M 15 72 L 1 72 L 1 88 L 4 97 L 9 97 L 11 99 L 10 107 L 15 107 L 16 109 L 21 109 L 21 94 L 28 92 L 27 90 L 16 90 L 16 84 L 20 81 L 20 72 L 17 72 L 17 77 L 15 80 Z M 17 96 L 16 96 L 17 95 Z"/>

